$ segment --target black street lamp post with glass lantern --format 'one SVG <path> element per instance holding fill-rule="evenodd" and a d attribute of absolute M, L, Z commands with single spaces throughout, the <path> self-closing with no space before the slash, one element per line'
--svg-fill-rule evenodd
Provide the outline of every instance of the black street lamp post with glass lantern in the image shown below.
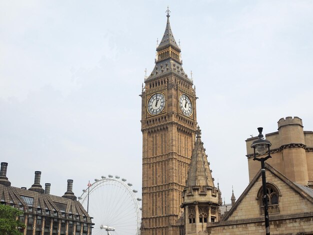
<path fill-rule="evenodd" d="M 269 235 L 269 218 L 268 218 L 268 204 L 267 204 L 267 198 L 266 198 L 266 177 L 265 177 L 265 163 L 264 161 L 270 158 L 269 154 L 269 147 L 271 143 L 266 140 L 262 134 L 263 127 L 258 127 L 258 139 L 253 141 L 251 144 L 251 147 L 253 147 L 254 150 L 254 157 L 253 160 L 258 160 L 261 162 L 261 172 L 262 172 L 262 187 L 263 187 L 263 205 L 264 205 L 264 217 L 265 217 L 265 232 L 266 235 Z M 258 157 L 256 157 L 255 151 L 259 154 Z M 265 157 L 259 157 L 263 154 L 265 154 L 268 151 L 268 155 Z"/>

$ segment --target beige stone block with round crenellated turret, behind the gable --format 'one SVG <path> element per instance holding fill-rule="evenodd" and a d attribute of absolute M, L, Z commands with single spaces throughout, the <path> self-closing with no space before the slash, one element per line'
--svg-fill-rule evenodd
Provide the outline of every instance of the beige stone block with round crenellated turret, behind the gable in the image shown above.
<path fill-rule="evenodd" d="M 297 116 L 280 118 L 277 123 L 278 131 L 265 135 L 272 156 L 266 162 L 290 180 L 313 188 L 313 131 L 303 131 L 302 119 Z M 259 171 L 250 147 L 256 139 L 245 140 L 250 181 Z"/>

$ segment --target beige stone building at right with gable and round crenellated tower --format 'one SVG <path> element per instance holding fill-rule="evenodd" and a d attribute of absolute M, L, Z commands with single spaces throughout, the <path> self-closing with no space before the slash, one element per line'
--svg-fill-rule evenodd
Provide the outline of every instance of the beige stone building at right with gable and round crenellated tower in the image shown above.
<path fill-rule="evenodd" d="M 270 234 L 313 234 L 313 132 L 303 131 L 299 117 L 288 116 L 265 136 L 272 144 L 265 163 Z M 256 139 L 246 140 L 249 185 L 221 221 L 207 225 L 207 234 L 265 234 L 260 163 L 251 150 Z"/>

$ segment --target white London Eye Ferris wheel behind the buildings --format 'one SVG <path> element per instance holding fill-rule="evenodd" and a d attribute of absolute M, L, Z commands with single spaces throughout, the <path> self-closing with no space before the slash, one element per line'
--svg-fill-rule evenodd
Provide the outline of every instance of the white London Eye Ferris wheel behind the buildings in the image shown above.
<path fill-rule="evenodd" d="M 94 179 L 78 201 L 93 217 L 92 235 L 139 235 L 141 199 L 125 178 L 113 175 Z"/>

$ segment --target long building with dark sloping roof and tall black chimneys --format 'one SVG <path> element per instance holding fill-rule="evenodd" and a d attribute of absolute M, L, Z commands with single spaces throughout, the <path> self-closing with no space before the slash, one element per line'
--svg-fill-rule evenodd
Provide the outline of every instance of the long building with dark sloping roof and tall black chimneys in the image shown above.
<path fill-rule="evenodd" d="M 62 196 L 50 194 L 50 183 L 40 185 L 40 171 L 35 171 L 34 183 L 26 187 L 11 186 L 6 177 L 7 163 L 1 162 L 1 203 L 23 212 L 19 219 L 25 223 L 24 235 L 91 235 L 91 217 L 72 192 L 73 180 L 67 180 Z"/>

